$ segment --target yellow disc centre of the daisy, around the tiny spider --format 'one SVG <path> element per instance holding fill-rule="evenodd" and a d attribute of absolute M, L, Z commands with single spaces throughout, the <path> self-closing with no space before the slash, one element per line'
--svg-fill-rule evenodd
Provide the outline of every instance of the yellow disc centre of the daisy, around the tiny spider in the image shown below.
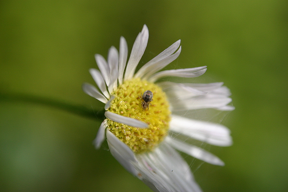
<path fill-rule="evenodd" d="M 150 90 L 153 93 L 151 105 L 143 111 L 142 94 Z M 153 151 L 167 135 L 171 120 L 166 94 L 154 83 L 140 78 L 124 81 L 111 95 L 115 98 L 107 111 L 138 119 L 149 125 L 149 128 L 137 128 L 107 119 L 110 132 L 127 144 L 135 153 Z"/>

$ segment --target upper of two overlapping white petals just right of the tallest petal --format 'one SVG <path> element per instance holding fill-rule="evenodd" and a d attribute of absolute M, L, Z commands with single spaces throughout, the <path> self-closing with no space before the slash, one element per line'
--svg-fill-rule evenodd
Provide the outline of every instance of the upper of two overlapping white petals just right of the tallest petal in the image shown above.
<path fill-rule="evenodd" d="M 151 59 L 150 61 L 148 61 L 145 65 L 143 65 L 139 71 L 137 71 L 137 73 L 135 74 L 135 77 L 143 77 L 146 73 L 148 73 L 151 69 L 154 69 L 155 64 L 157 65 L 157 63 L 161 60 L 163 60 L 164 58 L 172 55 L 180 46 L 180 42 L 181 40 L 179 39 L 178 41 L 176 41 L 175 43 L 173 43 L 170 47 L 168 47 L 167 49 L 165 49 L 164 51 L 162 51 L 160 54 L 158 54 L 156 57 L 154 57 L 153 59 Z"/>

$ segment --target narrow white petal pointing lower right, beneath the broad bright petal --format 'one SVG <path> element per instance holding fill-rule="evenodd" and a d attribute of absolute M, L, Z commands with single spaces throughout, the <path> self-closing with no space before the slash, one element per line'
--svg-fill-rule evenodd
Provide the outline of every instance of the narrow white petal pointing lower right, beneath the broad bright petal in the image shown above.
<path fill-rule="evenodd" d="M 188 155 L 191 155 L 192 157 L 195 157 L 197 159 L 200 159 L 213 165 L 219 165 L 219 166 L 225 165 L 221 159 L 219 159 L 212 153 L 209 153 L 200 147 L 196 147 L 195 145 L 189 145 L 183 141 L 177 140 L 176 138 L 172 139 L 170 137 L 166 137 L 166 140 L 175 149 L 182 151 L 183 153 L 186 153 Z"/>

